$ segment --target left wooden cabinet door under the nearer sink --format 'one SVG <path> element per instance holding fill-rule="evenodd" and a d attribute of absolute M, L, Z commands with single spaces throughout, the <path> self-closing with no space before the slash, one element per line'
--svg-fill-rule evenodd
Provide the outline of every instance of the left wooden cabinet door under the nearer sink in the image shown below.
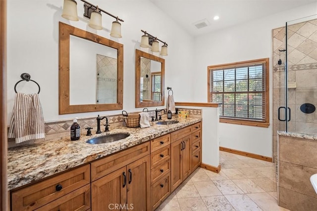
<path fill-rule="evenodd" d="M 91 183 L 91 210 L 111 211 L 121 205 L 126 209 L 128 175 L 126 166 Z M 117 206 L 117 207 L 115 207 Z"/>

